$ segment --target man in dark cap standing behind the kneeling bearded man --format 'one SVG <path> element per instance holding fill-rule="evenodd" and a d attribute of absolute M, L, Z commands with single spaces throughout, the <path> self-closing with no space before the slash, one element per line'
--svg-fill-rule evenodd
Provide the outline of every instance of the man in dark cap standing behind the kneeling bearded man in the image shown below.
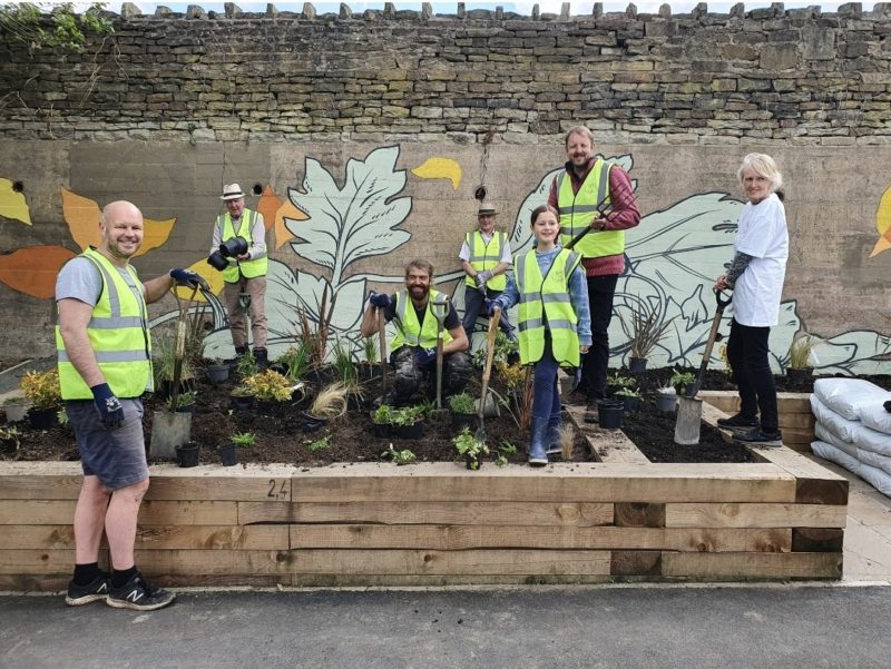
<path fill-rule="evenodd" d="M 495 207 L 480 203 L 477 213 L 478 227 L 464 235 L 458 257 L 467 274 L 464 279 L 464 318 L 462 325 L 467 333 L 468 344 L 472 347 L 473 326 L 482 309 L 484 299 L 495 299 L 507 285 L 507 270 L 513 263 L 510 253 L 508 234 L 495 229 Z M 515 338 L 513 327 L 508 321 L 507 312 L 501 312 L 498 323 L 508 338 Z"/>

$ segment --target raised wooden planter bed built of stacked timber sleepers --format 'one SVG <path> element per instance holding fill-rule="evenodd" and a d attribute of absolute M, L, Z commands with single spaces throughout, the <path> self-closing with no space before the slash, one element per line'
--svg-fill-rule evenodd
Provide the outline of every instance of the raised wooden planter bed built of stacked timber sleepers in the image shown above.
<path fill-rule="evenodd" d="M 785 447 L 757 464 L 635 450 L 544 471 L 155 466 L 137 562 L 168 586 L 841 578 L 843 478 Z M 0 589 L 65 587 L 79 488 L 78 463 L 0 463 Z"/>

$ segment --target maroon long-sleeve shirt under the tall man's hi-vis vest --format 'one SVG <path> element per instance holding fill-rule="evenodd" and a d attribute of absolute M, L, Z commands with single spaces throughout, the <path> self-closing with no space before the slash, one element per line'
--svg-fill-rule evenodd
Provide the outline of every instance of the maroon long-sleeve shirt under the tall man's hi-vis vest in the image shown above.
<path fill-rule="evenodd" d="M 581 184 L 588 177 L 588 174 L 594 167 L 594 158 L 588 161 L 588 167 L 580 178 L 572 170 L 572 163 L 566 163 L 566 171 L 569 174 L 574 194 L 577 194 L 579 188 L 581 188 Z M 551 181 L 550 193 L 548 194 L 548 204 L 555 208 L 557 207 L 559 188 L 557 179 L 559 176 L 558 174 Z M 604 225 L 605 230 L 627 230 L 636 227 L 640 223 L 640 209 L 637 208 L 637 198 L 634 196 L 631 179 L 628 177 L 628 173 L 618 165 L 614 165 L 609 170 L 609 201 L 610 211 L 606 217 L 606 223 Z M 584 258 L 581 264 L 585 266 L 585 274 L 587 276 L 621 274 L 625 272 L 625 255 L 616 254 L 613 256 L 601 256 L 599 258 Z"/>

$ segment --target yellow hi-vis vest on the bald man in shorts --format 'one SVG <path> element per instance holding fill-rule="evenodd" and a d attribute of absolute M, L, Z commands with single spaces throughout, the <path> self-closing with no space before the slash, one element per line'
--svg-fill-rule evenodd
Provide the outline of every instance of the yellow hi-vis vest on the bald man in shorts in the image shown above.
<path fill-rule="evenodd" d="M 151 390 L 151 342 L 148 311 L 136 269 L 127 266 L 138 296 L 118 269 L 99 252 L 81 254 L 99 269 L 102 292 L 87 324 L 87 336 L 96 353 L 99 370 L 118 397 L 138 397 Z M 63 400 L 92 400 L 92 393 L 68 360 L 61 331 L 56 326 L 59 384 Z"/>

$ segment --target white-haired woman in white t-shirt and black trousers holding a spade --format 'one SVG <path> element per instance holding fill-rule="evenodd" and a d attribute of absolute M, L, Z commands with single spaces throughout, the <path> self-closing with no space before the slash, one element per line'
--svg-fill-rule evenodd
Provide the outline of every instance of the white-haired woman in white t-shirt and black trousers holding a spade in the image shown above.
<path fill-rule="evenodd" d="M 733 289 L 727 362 L 740 388 L 740 413 L 718 424 L 740 431 L 734 440 L 781 445 L 776 386 L 767 341 L 780 319 L 780 298 L 789 258 L 783 176 L 766 154 L 748 154 L 737 173 L 748 203 L 736 228 L 734 256 L 715 289 Z M 761 421 L 757 413 L 761 412 Z"/>

